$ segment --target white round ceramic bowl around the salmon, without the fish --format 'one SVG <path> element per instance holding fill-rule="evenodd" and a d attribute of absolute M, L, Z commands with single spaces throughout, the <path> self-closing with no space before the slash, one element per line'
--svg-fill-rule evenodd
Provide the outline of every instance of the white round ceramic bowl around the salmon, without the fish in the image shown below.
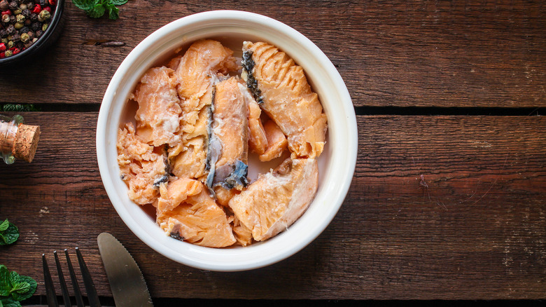
<path fill-rule="evenodd" d="M 127 97 L 144 72 L 197 39 L 218 39 L 237 51 L 241 42 L 267 41 L 303 67 L 328 116 L 328 139 L 319 161 L 319 182 L 309 209 L 287 231 L 248 247 L 215 249 L 166 236 L 127 196 L 120 179 L 116 138 L 127 121 Z M 240 51 L 239 51 L 240 53 Z M 211 11 L 189 15 L 158 29 L 139 43 L 112 77 L 97 123 L 97 158 L 106 193 L 121 219 L 146 245 L 181 264 L 211 271 L 244 271 L 274 264 L 311 243 L 330 224 L 351 184 L 358 132 L 351 97 L 328 57 L 295 29 L 262 15 Z"/>

